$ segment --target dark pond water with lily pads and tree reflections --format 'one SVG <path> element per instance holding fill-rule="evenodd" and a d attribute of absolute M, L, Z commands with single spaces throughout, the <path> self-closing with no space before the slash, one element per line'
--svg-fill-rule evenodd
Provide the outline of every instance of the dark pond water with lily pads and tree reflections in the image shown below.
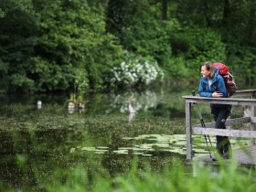
<path fill-rule="evenodd" d="M 77 166 L 96 174 L 102 170 L 111 176 L 125 174 L 134 157 L 157 172 L 181 163 L 191 174 L 192 167 L 185 164 L 182 98 L 189 92 L 97 93 L 87 96 L 85 108 L 75 112 L 68 110 L 65 95 L 2 95 L 0 181 L 38 190 L 57 171 L 66 176 Z M 202 111 L 210 119 L 208 106 Z M 196 116 L 192 122 L 197 122 Z M 194 139 L 195 154 L 208 153 L 203 137 Z"/>

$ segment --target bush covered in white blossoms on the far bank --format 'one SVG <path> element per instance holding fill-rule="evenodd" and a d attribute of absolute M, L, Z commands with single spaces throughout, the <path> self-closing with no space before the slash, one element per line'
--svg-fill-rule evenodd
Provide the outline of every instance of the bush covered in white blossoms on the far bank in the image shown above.
<path fill-rule="evenodd" d="M 163 80 L 164 72 L 152 59 L 130 57 L 112 69 L 112 76 L 112 86 L 134 87 Z"/>

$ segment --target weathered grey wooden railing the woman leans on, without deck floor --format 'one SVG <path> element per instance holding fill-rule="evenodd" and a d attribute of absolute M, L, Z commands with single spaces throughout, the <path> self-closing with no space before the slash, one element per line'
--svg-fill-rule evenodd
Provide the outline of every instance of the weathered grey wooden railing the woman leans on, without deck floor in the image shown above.
<path fill-rule="evenodd" d="M 246 97 L 246 98 L 240 98 Z M 256 117 L 254 107 L 256 106 L 256 90 L 242 90 L 237 91 L 231 98 L 206 98 L 199 96 L 183 96 L 186 102 L 186 134 L 187 134 L 187 160 L 192 159 L 192 134 L 204 135 L 220 135 L 230 137 L 245 137 L 256 139 Z M 250 98 L 250 99 L 249 99 Z M 235 124 L 251 123 L 251 130 L 232 130 L 232 129 L 216 129 L 215 123 L 205 123 L 206 128 L 199 125 L 192 126 L 191 124 L 191 103 L 218 103 L 218 104 L 231 104 L 248 106 L 249 117 L 240 117 L 235 119 L 228 119 L 226 126 Z M 255 143 L 254 143 L 255 144 Z"/>

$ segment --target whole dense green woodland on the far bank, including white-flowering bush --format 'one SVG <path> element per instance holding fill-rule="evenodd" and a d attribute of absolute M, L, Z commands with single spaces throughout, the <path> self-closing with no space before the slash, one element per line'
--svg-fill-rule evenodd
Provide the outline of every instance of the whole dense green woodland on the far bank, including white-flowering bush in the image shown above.
<path fill-rule="evenodd" d="M 255 0 L 1 0 L 1 92 L 198 83 L 203 61 L 255 82 Z"/>

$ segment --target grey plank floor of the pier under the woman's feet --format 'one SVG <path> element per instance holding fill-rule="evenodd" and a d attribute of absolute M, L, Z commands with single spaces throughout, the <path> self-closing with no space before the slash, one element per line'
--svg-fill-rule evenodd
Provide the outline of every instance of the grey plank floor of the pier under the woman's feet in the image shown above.
<path fill-rule="evenodd" d="M 256 165 L 256 145 L 249 145 L 245 148 L 233 150 L 232 155 L 238 165 Z M 194 160 L 203 161 L 205 164 L 218 165 L 217 161 L 212 161 L 209 155 L 198 155 Z M 230 161 L 225 159 L 225 161 Z"/>

